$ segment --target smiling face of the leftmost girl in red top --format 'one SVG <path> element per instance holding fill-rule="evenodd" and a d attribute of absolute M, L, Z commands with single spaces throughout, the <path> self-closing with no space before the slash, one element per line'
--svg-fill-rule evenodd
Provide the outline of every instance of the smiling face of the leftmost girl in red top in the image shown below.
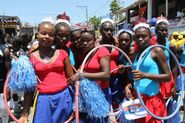
<path fill-rule="evenodd" d="M 51 23 L 41 24 L 38 32 L 39 46 L 51 47 L 54 42 L 54 25 Z"/>

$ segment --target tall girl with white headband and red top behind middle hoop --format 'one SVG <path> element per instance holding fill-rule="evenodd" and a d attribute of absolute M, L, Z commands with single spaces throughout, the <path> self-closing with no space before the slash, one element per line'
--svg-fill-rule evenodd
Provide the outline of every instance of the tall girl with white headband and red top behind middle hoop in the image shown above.
<path fill-rule="evenodd" d="M 101 39 L 98 39 L 98 42 L 100 45 L 102 44 L 109 44 L 109 45 L 114 45 L 117 46 L 119 45 L 117 37 L 114 36 L 114 31 L 115 31 L 115 25 L 114 21 L 105 18 L 101 20 L 101 25 L 100 25 L 100 33 L 102 35 Z M 110 56 L 110 72 L 111 72 L 111 77 L 110 77 L 110 91 L 112 93 L 112 97 L 115 97 L 116 91 L 118 89 L 118 71 L 114 71 L 115 69 L 118 68 L 118 59 L 119 59 L 119 51 L 115 48 L 108 47 L 107 48 L 111 54 Z M 116 98 L 113 98 L 112 100 L 112 105 L 113 109 L 116 108 Z"/>

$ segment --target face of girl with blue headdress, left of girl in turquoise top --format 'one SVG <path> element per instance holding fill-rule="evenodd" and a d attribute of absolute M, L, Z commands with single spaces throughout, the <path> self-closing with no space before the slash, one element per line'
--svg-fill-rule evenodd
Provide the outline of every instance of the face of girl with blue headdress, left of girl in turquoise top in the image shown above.
<path fill-rule="evenodd" d="M 130 46 L 131 46 L 131 37 L 130 35 L 127 33 L 127 32 L 123 32 L 119 35 L 118 37 L 118 40 L 119 40 L 119 47 L 122 49 L 122 50 L 128 50 L 130 49 Z"/>

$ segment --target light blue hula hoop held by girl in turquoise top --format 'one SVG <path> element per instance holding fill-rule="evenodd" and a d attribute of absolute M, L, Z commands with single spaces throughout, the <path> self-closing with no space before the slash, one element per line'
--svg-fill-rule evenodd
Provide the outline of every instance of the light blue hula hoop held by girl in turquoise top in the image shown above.
<path fill-rule="evenodd" d="M 145 108 L 145 110 L 147 111 L 148 114 L 150 114 L 152 117 L 154 117 L 154 118 L 156 118 L 156 119 L 159 119 L 159 120 L 167 120 L 167 119 L 172 118 L 172 117 L 179 111 L 179 109 L 180 109 L 180 106 L 181 106 L 181 103 L 182 103 L 182 99 L 183 99 L 183 96 L 184 96 L 184 95 L 183 95 L 183 93 L 184 93 L 184 83 L 183 83 L 183 79 L 184 79 L 184 78 L 183 78 L 182 70 L 181 70 L 181 68 L 180 68 L 180 64 L 179 64 L 179 62 L 178 62 L 176 56 L 173 54 L 173 52 L 172 52 L 171 50 L 169 50 L 168 48 L 166 48 L 165 46 L 162 46 L 162 45 L 153 45 L 153 46 L 150 46 L 150 47 L 148 47 L 147 49 L 145 49 L 145 50 L 143 51 L 143 53 L 141 54 L 141 56 L 139 57 L 138 64 L 137 64 L 137 66 L 136 66 L 136 70 L 139 70 L 139 66 L 140 66 L 140 64 L 141 64 L 142 58 L 143 58 L 143 56 L 146 54 L 146 52 L 147 52 L 148 50 L 154 48 L 154 47 L 161 47 L 161 48 L 163 48 L 163 49 L 168 50 L 168 52 L 169 52 L 169 53 L 173 56 L 173 58 L 175 59 L 175 62 L 176 62 L 176 64 L 177 64 L 177 66 L 178 66 L 178 69 L 179 69 L 179 72 L 180 72 L 180 80 L 181 80 L 181 82 L 182 82 L 182 90 L 179 92 L 179 95 L 180 95 L 179 97 L 180 97 L 180 98 L 178 98 L 178 101 L 177 101 L 177 103 L 178 103 L 177 108 L 176 108 L 176 110 L 175 110 L 172 114 L 170 114 L 170 115 L 168 115 L 168 116 L 166 116 L 166 117 L 156 116 L 155 114 L 153 114 L 152 112 L 150 112 L 150 110 L 149 110 L 149 109 L 146 107 L 146 105 L 144 104 L 143 99 L 141 98 L 141 94 L 140 94 L 139 86 L 138 86 L 139 80 L 136 81 L 136 92 L 137 92 L 138 98 L 139 98 L 139 100 L 140 100 L 142 106 Z"/>

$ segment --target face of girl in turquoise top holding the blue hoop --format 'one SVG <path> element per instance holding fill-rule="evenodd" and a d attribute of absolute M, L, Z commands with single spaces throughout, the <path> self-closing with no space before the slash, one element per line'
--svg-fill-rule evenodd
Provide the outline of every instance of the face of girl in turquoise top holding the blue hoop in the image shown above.
<path fill-rule="evenodd" d="M 141 27 L 135 31 L 135 41 L 140 50 L 146 49 L 150 46 L 150 32 L 148 29 Z"/>

